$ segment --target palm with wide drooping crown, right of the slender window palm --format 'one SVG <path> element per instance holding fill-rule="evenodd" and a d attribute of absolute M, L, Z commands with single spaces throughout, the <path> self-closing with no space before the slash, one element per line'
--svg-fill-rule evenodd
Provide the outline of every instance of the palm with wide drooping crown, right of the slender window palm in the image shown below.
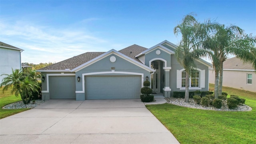
<path fill-rule="evenodd" d="M 208 22 L 205 26 L 211 24 Z M 222 95 L 223 62 L 229 55 L 235 55 L 244 62 L 253 64 L 256 69 L 256 37 L 244 34 L 238 26 L 216 25 L 215 30 L 208 33 L 202 48 L 212 52 L 215 70 L 214 96 Z"/>

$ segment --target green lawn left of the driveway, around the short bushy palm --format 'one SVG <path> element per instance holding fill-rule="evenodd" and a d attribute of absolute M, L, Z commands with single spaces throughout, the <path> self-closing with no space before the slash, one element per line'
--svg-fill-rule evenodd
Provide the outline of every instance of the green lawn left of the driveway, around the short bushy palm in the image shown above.
<path fill-rule="evenodd" d="M 0 119 L 30 109 L 30 108 L 21 108 L 21 109 L 13 109 L 13 110 L 3 109 L 2 107 L 6 106 L 7 104 L 11 104 L 13 102 L 22 100 L 20 96 L 16 97 L 14 94 L 11 94 L 10 91 L 11 89 L 3 93 L 2 88 L 0 89 Z"/>

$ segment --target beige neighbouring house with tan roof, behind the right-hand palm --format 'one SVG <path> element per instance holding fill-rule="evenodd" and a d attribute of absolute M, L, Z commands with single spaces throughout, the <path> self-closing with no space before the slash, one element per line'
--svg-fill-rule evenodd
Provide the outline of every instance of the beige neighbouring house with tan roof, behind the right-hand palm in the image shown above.
<path fill-rule="evenodd" d="M 214 84 L 213 69 L 209 70 L 209 76 L 209 82 Z M 229 58 L 223 63 L 222 86 L 256 92 L 256 71 L 251 64 L 244 64 L 239 58 Z"/>

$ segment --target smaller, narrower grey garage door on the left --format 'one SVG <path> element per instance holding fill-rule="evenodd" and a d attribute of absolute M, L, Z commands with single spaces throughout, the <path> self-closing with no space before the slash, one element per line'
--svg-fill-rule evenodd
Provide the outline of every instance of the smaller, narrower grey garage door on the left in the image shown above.
<path fill-rule="evenodd" d="M 75 76 L 49 76 L 51 99 L 76 98 Z"/>

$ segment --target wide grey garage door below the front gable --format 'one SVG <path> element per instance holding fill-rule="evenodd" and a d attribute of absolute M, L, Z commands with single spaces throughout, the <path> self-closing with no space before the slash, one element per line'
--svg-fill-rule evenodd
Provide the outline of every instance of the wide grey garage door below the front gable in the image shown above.
<path fill-rule="evenodd" d="M 86 99 L 140 98 L 141 76 L 86 76 Z"/>

